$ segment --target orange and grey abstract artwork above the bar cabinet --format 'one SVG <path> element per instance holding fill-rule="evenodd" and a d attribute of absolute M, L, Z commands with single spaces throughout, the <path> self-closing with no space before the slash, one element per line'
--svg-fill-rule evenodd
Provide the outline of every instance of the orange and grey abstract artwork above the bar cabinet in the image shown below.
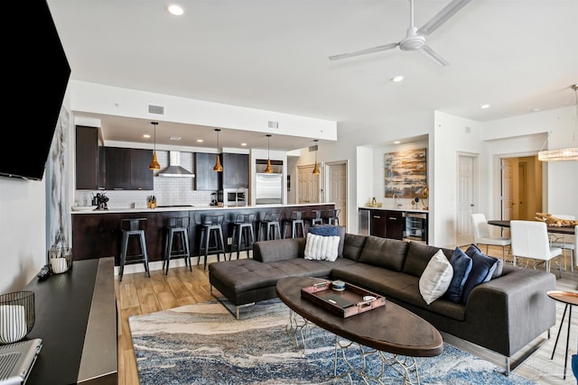
<path fill-rule="evenodd" d="M 426 149 L 386 152 L 384 197 L 422 197 L 427 186 Z"/>

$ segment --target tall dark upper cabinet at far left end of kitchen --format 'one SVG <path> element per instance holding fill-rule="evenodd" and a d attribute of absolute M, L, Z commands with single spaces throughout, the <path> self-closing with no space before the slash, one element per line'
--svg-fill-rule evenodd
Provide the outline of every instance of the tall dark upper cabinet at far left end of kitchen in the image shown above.
<path fill-rule="evenodd" d="M 76 126 L 76 188 L 105 188 L 105 154 L 98 127 Z"/>

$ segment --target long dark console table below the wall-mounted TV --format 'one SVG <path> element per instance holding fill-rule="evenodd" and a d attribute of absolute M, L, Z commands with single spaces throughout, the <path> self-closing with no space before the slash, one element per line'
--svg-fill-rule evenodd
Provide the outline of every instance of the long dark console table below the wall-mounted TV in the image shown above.
<path fill-rule="evenodd" d="M 24 288 L 34 292 L 36 314 L 26 338 L 42 338 L 27 383 L 117 385 L 114 264 L 113 257 L 74 261 Z"/>

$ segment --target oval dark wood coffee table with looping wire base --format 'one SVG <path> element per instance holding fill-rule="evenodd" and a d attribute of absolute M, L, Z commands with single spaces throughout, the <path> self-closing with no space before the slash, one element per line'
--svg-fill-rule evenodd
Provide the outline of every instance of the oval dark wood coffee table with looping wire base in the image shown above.
<path fill-rule="evenodd" d="M 336 348 L 340 347 L 342 351 L 350 344 L 340 343 L 337 336 L 349 340 L 350 343 L 375 349 L 382 362 L 392 367 L 402 367 L 396 371 L 404 376 L 405 383 L 419 383 L 415 357 L 432 357 L 443 353 L 443 339 L 437 329 L 420 316 L 393 302 L 387 301 L 385 307 L 343 317 L 302 297 L 301 289 L 322 281 L 324 280 L 308 277 L 290 277 L 277 281 L 277 295 L 291 309 L 291 326 L 288 326 L 288 329 L 295 330 L 304 326 L 295 325 L 294 313 L 296 313 L 303 317 L 305 323 L 312 322 L 336 335 Z M 302 332 L 303 335 L 306 334 Z M 303 338 L 303 348 L 304 343 Z M 384 353 L 393 355 L 393 359 L 385 357 Z M 398 355 L 406 357 L 400 358 Z M 363 371 L 351 367 L 344 352 L 343 358 L 350 371 L 366 378 Z M 337 354 L 335 360 L 337 368 Z M 343 375 L 350 377 L 350 371 Z M 337 376 L 337 373 L 334 374 Z M 413 377 L 416 380 L 412 380 Z"/>

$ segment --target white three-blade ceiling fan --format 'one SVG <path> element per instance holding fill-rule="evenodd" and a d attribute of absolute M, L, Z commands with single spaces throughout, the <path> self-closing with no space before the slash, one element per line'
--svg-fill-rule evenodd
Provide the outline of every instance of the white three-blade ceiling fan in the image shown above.
<path fill-rule="evenodd" d="M 447 22 L 450 17 L 456 14 L 464 5 L 470 3 L 471 0 L 452 0 L 450 4 L 443 7 L 443 9 L 425 23 L 420 29 L 414 25 L 414 0 L 409 0 L 409 28 L 407 28 L 406 37 L 398 42 L 391 42 L 378 47 L 368 48 L 367 50 L 358 50 L 355 52 L 341 53 L 340 55 L 330 56 L 330 60 L 339 60 L 351 58 L 353 56 L 365 55 L 367 53 L 379 52 L 381 50 L 392 50 L 399 47 L 400 50 L 419 50 L 425 56 L 429 57 L 441 66 L 447 66 L 448 63 L 434 50 L 425 44 L 425 36 L 437 30 L 443 23 Z"/>

